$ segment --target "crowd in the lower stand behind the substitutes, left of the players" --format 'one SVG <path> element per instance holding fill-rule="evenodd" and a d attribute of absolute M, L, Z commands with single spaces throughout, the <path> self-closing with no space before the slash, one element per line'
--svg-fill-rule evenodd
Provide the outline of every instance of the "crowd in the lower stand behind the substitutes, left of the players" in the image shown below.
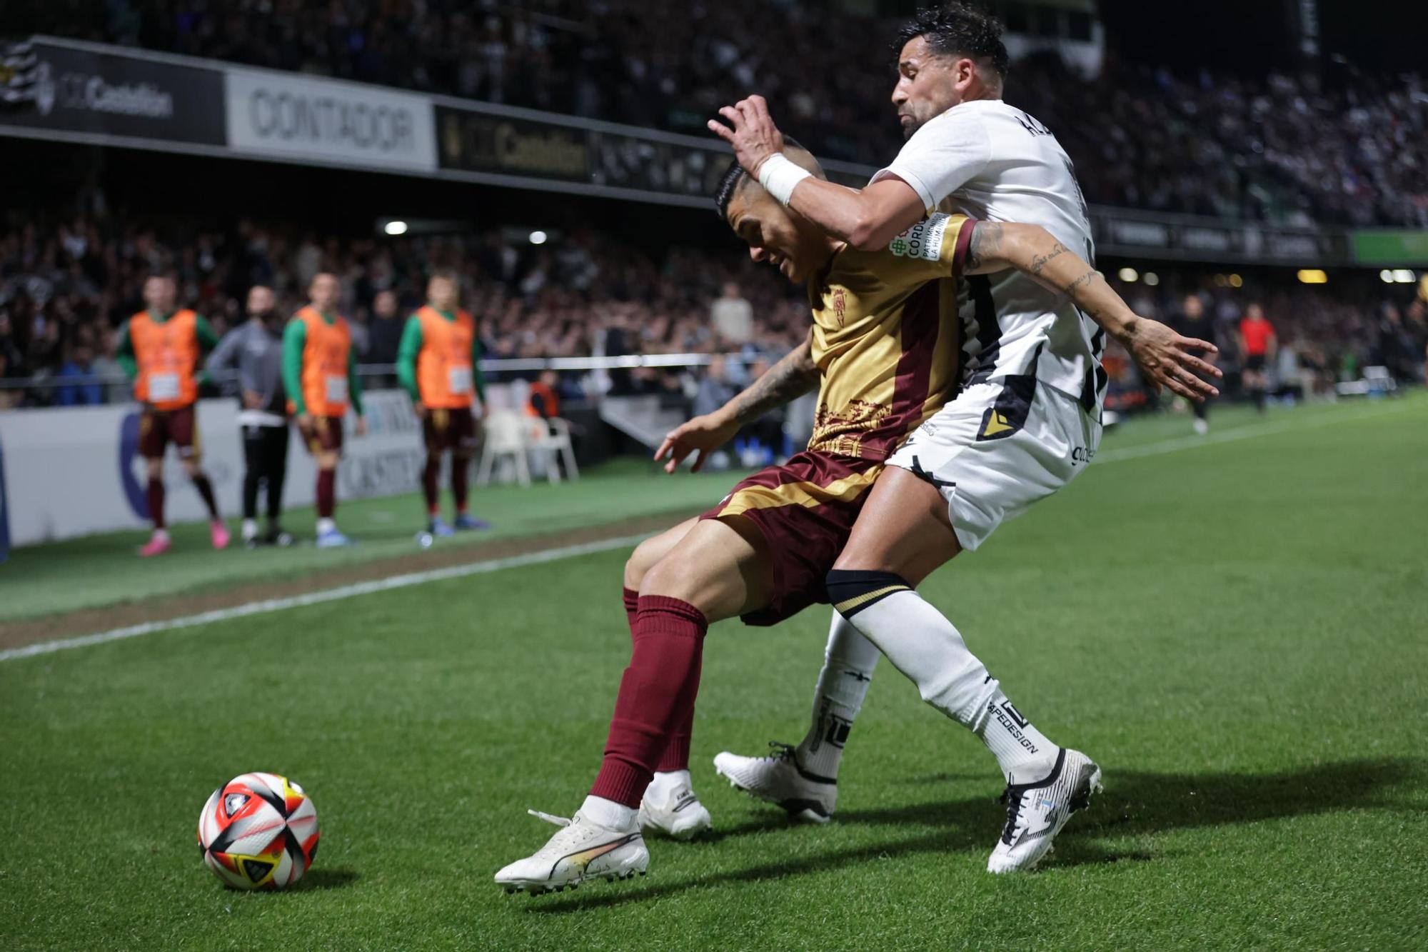
<path fill-rule="evenodd" d="M 781 356 L 807 327 L 798 289 L 741 254 L 623 244 L 574 232 L 536 246 L 501 229 L 473 236 L 336 240 L 238 222 L 230 232 L 157 232 L 77 217 L 0 229 L 0 379 L 109 376 L 113 386 L 0 390 L 0 406 L 127 399 L 117 329 L 143 309 L 143 279 L 171 270 L 180 300 L 220 334 L 244 319 L 253 283 L 291 313 L 317 272 L 343 286 L 358 359 L 396 360 L 433 267 L 456 267 L 490 357 L 744 353 Z M 498 379 L 498 377 L 497 377 Z M 617 392 L 680 387 L 677 375 L 615 375 Z"/>

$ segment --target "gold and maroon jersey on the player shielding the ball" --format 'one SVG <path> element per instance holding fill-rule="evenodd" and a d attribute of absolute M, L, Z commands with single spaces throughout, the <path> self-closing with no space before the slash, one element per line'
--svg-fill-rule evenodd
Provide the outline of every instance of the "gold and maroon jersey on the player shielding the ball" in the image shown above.
<path fill-rule="evenodd" d="M 843 247 L 808 282 L 823 380 L 810 450 L 887 459 L 957 390 L 957 276 L 975 222 L 934 214 L 875 252 Z"/>

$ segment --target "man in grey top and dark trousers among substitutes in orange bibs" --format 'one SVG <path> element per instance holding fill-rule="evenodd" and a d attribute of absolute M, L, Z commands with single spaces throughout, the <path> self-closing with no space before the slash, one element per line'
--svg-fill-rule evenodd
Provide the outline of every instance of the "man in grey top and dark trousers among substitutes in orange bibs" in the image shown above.
<path fill-rule="evenodd" d="M 283 320 L 271 287 L 248 290 L 248 320 L 234 327 L 208 357 L 208 373 L 237 369 L 238 426 L 243 430 L 243 545 L 288 546 L 283 532 L 283 479 L 287 476 L 287 396 L 283 392 Z M 267 487 L 267 532 L 258 535 L 258 483 Z"/>

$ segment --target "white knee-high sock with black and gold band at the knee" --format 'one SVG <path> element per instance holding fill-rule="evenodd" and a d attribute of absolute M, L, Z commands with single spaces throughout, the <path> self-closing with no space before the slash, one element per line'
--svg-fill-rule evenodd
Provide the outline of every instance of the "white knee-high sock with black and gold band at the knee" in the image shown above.
<path fill-rule="evenodd" d="M 987 666 L 967 650 L 961 633 L 901 577 L 831 572 L 828 595 L 838 612 L 917 685 L 922 700 L 981 738 L 1008 778 L 1025 780 L 1055 759 L 1057 746 L 1012 706 Z"/>

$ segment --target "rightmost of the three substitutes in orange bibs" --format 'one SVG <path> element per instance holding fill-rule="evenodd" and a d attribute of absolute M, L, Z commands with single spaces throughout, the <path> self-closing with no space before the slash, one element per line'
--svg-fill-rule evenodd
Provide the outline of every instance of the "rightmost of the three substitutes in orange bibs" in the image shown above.
<path fill-rule="evenodd" d="M 433 272 L 427 303 L 407 319 L 397 353 L 397 379 L 421 419 L 427 465 L 421 492 L 427 500 L 427 532 L 450 536 L 457 529 L 490 529 L 471 515 L 467 502 L 471 455 L 476 452 L 478 412 L 486 400 L 481 382 L 481 340 L 476 319 L 458 307 L 461 287 L 453 272 Z M 451 452 L 451 496 L 456 519 L 441 520 L 441 455 Z"/>

